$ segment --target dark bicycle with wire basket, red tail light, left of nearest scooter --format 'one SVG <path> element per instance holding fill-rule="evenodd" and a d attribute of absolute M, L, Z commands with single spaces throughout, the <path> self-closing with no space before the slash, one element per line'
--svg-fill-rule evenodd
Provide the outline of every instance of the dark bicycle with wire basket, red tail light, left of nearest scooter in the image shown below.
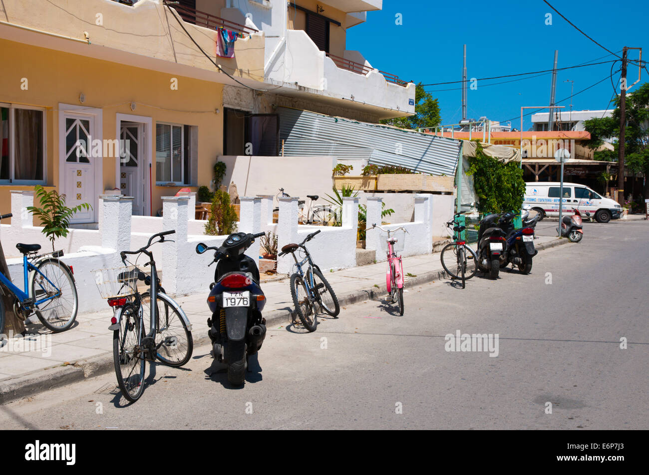
<path fill-rule="evenodd" d="M 114 308 L 108 329 L 113 330 L 115 373 L 119 389 L 130 402 L 140 399 L 144 391 L 147 361 L 151 364 L 159 360 L 178 367 L 186 364 L 193 352 L 191 323 L 180 305 L 164 293 L 153 253 L 147 250 L 153 244 L 165 242 L 164 237 L 175 232 L 155 234 L 137 251 L 121 251 L 119 256 L 124 266 L 92 271 L 101 296 Z M 160 240 L 153 242 L 156 237 Z M 151 268 L 150 275 L 138 268 L 137 259 L 135 264 L 126 259 L 127 255 L 140 257 L 141 254 L 149 258 L 144 266 Z M 143 281 L 149 290 L 140 294 L 138 281 Z M 160 303 L 164 305 L 164 312 Z"/>

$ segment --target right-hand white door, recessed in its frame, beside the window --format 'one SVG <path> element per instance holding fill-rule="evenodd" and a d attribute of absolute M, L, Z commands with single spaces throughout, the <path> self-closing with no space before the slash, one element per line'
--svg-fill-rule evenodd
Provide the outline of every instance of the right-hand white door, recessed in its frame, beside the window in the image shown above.
<path fill-rule="evenodd" d="M 121 122 L 119 128 L 119 150 L 123 156 L 119 163 L 119 191 L 132 196 L 133 214 L 144 214 L 145 173 L 147 160 L 144 154 L 144 124 Z"/>

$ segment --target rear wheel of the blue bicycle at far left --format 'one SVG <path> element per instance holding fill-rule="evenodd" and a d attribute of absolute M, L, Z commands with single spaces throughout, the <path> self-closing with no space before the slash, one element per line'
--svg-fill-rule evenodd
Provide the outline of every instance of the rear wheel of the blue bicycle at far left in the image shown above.
<path fill-rule="evenodd" d="M 34 308 L 38 319 L 53 332 L 69 329 L 77 318 L 79 297 L 69 268 L 58 259 L 40 261 L 32 279 L 32 297 L 36 301 L 58 294 Z M 40 273 L 39 273 L 40 272 Z"/>

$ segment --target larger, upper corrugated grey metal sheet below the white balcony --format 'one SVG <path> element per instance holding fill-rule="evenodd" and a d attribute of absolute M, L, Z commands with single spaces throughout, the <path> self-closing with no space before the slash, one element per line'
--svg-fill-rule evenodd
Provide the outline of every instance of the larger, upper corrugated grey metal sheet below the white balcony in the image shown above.
<path fill-rule="evenodd" d="M 286 156 L 331 155 L 432 175 L 455 173 L 459 140 L 288 108 L 277 113 Z"/>

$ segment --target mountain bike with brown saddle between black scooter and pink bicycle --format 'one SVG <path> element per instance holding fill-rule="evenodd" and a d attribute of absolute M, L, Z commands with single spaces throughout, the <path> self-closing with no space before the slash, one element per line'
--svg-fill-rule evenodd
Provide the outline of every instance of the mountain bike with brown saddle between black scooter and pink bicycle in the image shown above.
<path fill-rule="evenodd" d="M 315 237 L 321 231 L 315 231 L 308 235 L 300 244 L 286 244 L 280 252 L 280 256 L 291 253 L 295 259 L 296 271 L 291 275 L 291 297 L 293 297 L 293 304 L 295 305 L 295 312 L 302 321 L 302 325 L 310 332 L 315 331 L 317 327 L 317 307 L 323 310 L 324 313 L 337 318 L 340 313 L 340 305 L 338 298 L 334 294 L 334 290 L 324 278 L 320 268 L 313 264 L 311 254 L 304 246 L 306 242 Z M 304 259 L 298 261 L 295 256 L 295 251 L 301 249 L 304 252 Z M 308 262 L 306 273 L 302 270 L 302 266 Z"/>

